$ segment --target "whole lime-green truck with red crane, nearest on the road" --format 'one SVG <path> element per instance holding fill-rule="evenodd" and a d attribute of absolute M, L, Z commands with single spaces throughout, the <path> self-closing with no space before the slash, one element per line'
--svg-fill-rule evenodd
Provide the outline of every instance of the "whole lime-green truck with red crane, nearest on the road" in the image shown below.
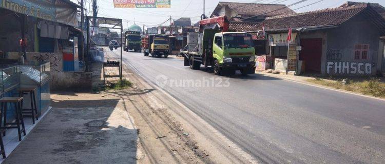
<path fill-rule="evenodd" d="M 226 17 L 201 20 L 201 32 L 187 34 L 187 46 L 181 51 L 184 66 L 199 70 L 211 66 L 216 75 L 254 74 L 255 48 L 252 35 L 245 32 L 224 32 Z M 203 25 L 220 23 L 220 29 L 204 29 Z"/>

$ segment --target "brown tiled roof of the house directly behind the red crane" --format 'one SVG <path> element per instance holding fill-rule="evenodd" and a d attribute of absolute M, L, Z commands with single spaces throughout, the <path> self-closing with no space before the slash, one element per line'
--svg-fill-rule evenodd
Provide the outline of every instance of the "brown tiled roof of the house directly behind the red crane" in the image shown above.
<path fill-rule="evenodd" d="M 277 4 L 219 2 L 218 6 L 221 6 L 221 5 L 228 6 L 229 9 L 234 10 L 239 15 L 277 16 L 281 14 L 295 13 L 292 9 L 286 7 L 285 5 L 277 5 Z"/>

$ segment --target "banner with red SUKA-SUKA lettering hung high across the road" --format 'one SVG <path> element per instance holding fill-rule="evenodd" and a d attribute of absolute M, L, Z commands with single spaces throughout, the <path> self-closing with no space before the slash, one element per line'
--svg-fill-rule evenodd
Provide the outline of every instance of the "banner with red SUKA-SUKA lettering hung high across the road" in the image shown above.
<path fill-rule="evenodd" d="M 171 0 L 113 0 L 114 8 L 170 8 Z"/>

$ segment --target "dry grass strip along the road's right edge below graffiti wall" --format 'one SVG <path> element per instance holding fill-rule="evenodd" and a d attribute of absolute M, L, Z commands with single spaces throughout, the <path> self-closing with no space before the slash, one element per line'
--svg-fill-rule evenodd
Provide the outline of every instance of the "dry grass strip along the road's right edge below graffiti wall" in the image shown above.
<path fill-rule="evenodd" d="M 347 91 L 357 92 L 365 95 L 372 95 L 376 97 L 385 98 L 385 81 L 380 78 L 369 79 L 308 79 L 307 81 L 322 86 L 333 87 L 336 89 L 343 89 Z"/>

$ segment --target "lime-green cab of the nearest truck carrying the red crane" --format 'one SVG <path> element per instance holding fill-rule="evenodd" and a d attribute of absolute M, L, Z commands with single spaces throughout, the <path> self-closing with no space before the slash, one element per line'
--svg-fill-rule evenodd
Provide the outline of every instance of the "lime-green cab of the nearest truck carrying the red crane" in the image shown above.
<path fill-rule="evenodd" d="M 214 35 L 213 64 L 215 74 L 236 70 L 242 74 L 254 74 L 255 48 L 252 35 L 244 32 L 221 32 Z"/>

